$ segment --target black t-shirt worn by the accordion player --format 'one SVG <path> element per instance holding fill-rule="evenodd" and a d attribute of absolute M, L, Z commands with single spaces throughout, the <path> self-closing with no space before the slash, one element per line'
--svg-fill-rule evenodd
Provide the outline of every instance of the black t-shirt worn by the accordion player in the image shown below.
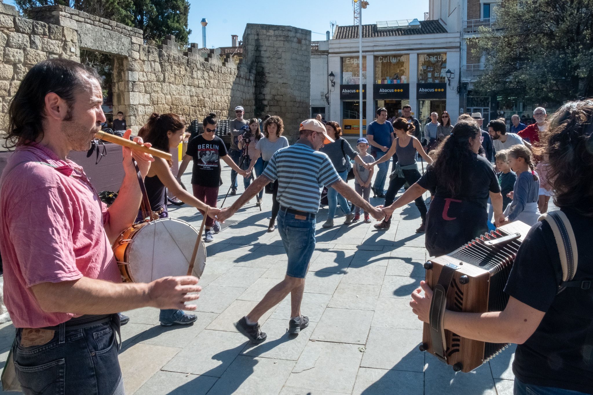
<path fill-rule="evenodd" d="M 578 249 L 574 280 L 593 280 L 593 219 L 562 211 Z M 517 253 L 505 292 L 546 315 L 533 335 L 517 346 L 513 372 L 534 386 L 593 394 L 593 288 L 568 287 L 557 294 L 562 281 L 558 254 L 547 222 L 531 227 Z"/>

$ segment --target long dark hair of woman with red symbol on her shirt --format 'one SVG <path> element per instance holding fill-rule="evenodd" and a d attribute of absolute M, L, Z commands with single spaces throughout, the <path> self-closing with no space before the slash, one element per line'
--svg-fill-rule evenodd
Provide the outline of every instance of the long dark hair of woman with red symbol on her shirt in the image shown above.
<path fill-rule="evenodd" d="M 479 134 L 480 128 L 475 121 L 461 120 L 435 150 L 435 161 L 431 166 L 436 178 L 447 186 L 453 197 L 460 194 L 466 166 L 473 158 L 470 139 L 476 139 Z"/>

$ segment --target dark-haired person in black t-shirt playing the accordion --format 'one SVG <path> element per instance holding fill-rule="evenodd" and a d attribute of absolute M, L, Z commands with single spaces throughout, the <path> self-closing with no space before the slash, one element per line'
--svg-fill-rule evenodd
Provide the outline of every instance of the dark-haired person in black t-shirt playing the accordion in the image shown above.
<path fill-rule="evenodd" d="M 550 222 L 538 221 L 517 253 L 505 287 L 509 302 L 504 311 L 445 310 L 444 329 L 464 338 L 518 344 L 515 395 L 593 394 L 592 134 L 593 100 L 575 101 L 554 114 L 540 140 L 550 158 L 554 203 L 576 241 L 576 253 L 569 257 L 577 261 L 570 285 L 560 287 L 567 284 Z M 420 282 L 410 306 L 424 322 L 429 322 L 431 299 L 432 290 Z"/>

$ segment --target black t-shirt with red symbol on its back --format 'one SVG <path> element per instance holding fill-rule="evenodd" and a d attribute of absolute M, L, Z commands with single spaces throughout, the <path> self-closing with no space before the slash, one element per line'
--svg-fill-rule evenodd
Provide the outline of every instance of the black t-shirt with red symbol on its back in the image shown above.
<path fill-rule="evenodd" d="M 489 192 L 500 192 L 498 178 L 490 162 L 475 153 L 464 169 L 457 196 L 437 178 L 433 166 L 417 182 L 434 194 L 426 216 L 426 249 L 432 256 L 454 251 L 488 230 L 486 204 Z"/>

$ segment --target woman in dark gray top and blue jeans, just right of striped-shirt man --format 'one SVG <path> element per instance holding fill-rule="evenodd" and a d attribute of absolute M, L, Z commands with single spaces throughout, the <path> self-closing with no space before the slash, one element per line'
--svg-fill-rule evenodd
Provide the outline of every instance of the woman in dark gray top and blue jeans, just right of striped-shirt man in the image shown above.
<path fill-rule="evenodd" d="M 326 153 L 327 156 L 330 157 L 331 163 L 333 163 L 337 173 L 347 182 L 348 172 L 352 167 L 350 159 L 356 160 L 356 162 L 362 166 L 365 165 L 365 162 L 358 156 L 358 153 L 352 149 L 350 143 L 341 137 L 342 128 L 339 123 L 327 121 L 326 130 L 328 136 L 330 136 L 334 142 L 321 147 L 320 151 Z M 327 188 L 327 205 L 329 206 L 329 210 L 327 211 L 327 220 L 322 225 L 323 227 L 333 226 L 333 219 L 336 215 L 338 204 L 340 204 L 340 208 L 342 208 L 343 213 L 346 215 L 344 223 L 352 223 L 354 214 L 350 213 L 350 205 L 347 200 L 334 190 L 334 188 Z"/>

